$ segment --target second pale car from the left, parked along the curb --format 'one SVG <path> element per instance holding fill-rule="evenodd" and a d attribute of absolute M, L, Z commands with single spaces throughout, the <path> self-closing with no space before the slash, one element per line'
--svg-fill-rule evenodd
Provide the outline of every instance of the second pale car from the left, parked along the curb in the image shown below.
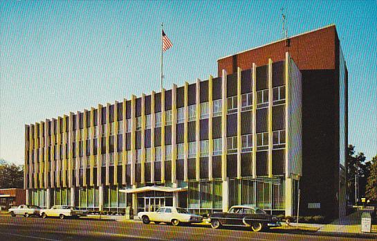
<path fill-rule="evenodd" d="M 78 210 L 73 206 L 52 206 L 50 209 L 42 209 L 39 211 L 41 217 L 59 217 L 61 220 L 66 217 L 84 217 L 88 214 L 86 210 Z"/>

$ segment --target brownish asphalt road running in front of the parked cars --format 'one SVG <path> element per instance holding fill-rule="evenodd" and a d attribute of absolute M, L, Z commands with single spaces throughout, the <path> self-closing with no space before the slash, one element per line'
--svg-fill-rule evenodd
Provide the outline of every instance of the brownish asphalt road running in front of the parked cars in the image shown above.
<path fill-rule="evenodd" d="M 282 233 L 284 232 L 284 233 Z M 101 220 L 59 220 L 0 216 L 0 240 L 356 240 L 271 229 L 254 233 L 245 228 L 170 226 Z"/>

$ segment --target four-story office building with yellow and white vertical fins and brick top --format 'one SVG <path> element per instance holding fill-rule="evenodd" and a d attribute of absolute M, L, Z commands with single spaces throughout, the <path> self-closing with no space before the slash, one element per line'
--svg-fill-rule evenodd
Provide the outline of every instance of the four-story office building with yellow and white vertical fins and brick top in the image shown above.
<path fill-rule="evenodd" d="M 335 31 L 335 26 L 324 28 L 328 29 Z M 343 89 L 337 98 L 347 100 L 345 80 L 339 88 L 340 77 L 338 83 L 311 75 L 304 79 L 295 59 L 296 48 L 307 44 L 295 39 L 322 31 L 282 40 L 286 47 L 276 49 L 271 58 L 264 53 L 258 53 L 257 60 L 243 57 L 243 53 L 223 58 L 217 78 L 210 75 L 208 80 L 185 82 L 181 87 L 174 84 L 169 90 L 26 125 L 27 202 L 111 211 L 131 206 L 136 212 L 174 205 L 196 213 L 256 204 L 266 211 L 293 215 L 299 186 L 302 194 L 319 188 L 314 184 L 306 187 L 301 181 L 305 167 L 316 165 L 313 158 L 306 163 L 311 148 L 305 145 L 317 145 L 312 148 L 319 149 L 318 156 L 329 142 L 338 145 L 338 157 L 330 157 L 330 161 L 339 164 L 339 145 L 347 137 L 347 128 L 341 127 L 347 126 L 346 112 L 342 125 L 338 123 L 339 132 L 324 130 L 338 137 L 343 134 L 342 140 L 331 136 L 324 143 L 304 142 L 306 132 L 315 135 L 326 121 L 312 114 L 308 118 L 314 119 L 307 121 L 315 126 L 304 126 L 304 114 L 310 114 L 305 109 L 306 98 L 326 95 L 305 93 L 305 81 L 312 78 L 331 91 Z M 293 44 L 297 46 L 293 48 Z M 344 60 L 334 57 L 336 61 L 344 72 Z M 335 102 L 336 96 L 331 98 Z M 311 105 L 314 103 L 307 107 Z M 347 102 L 338 101 L 338 112 L 329 115 L 341 119 L 340 105 L 347 111 Z M 335 104 L 331 107 L 336 110 Z M 312 111 L 323 116 L 321 108 Z M 331 164 L 327 168 L 339 173 L 339 167 Z M 340 185 L 339 174 L 327 181 L 333 183 L 334 178 Z M 318 202 L 309 205 L 318 208 Z"/>

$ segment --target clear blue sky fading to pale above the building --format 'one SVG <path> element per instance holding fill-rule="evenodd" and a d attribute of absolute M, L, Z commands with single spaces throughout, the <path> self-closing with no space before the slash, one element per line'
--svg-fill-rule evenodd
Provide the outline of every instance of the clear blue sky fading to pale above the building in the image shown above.
<path fill-rule="evenodd" d="M 349 143 L 377 154 L 376 1 L 0 1 L 0 159 L 24 163 L 24 126 L 217 76 L 217 60 L 335 24 L 349 69 Z"/>

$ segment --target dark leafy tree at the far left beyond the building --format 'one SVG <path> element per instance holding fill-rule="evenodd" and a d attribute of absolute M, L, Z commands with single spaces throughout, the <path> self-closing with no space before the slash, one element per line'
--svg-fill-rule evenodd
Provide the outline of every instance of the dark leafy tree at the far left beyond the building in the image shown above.
<path fill-rule="evenodd" d="M 0 165 L 0 189 L 24 188 L 24 166 L 15 164 Z"/>

